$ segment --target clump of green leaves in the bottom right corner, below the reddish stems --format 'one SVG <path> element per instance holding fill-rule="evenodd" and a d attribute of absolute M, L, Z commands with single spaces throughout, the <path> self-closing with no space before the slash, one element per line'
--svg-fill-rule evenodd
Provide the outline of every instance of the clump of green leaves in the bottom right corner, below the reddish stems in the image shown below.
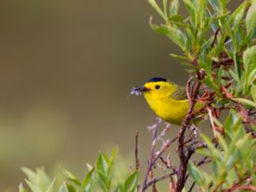
<path fill-rule="evenodd" d="M 212 160 L 212 171 L 204 172 L 194 163 L 189 164 L 189 174 L 198 184 L 200 191 L 224 191 L 235 185 L 247 186 L 247 178 L 252 178 L 252 185 L 256 186 L 255 160 L 256 142 L 241 124 L 241 118 L 235 111 L 225 119 L 224 138 L 218 132 L 218 148 L 214 146 L 210 137 L 201 135 L 207 148 L 196 152 Z M 246 188 L 244 188 L 246 189 Z M 235 190 L 235 189 L 233 189 Z"/>

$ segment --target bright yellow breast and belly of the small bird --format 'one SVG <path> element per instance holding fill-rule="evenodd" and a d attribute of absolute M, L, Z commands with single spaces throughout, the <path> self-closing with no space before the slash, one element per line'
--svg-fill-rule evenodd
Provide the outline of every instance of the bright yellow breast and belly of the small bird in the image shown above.
<path fill-rule="evenodd" d="M 189 100 L 176 100 L 170 96 L 154 99 L 150 95 L 145 94 L 144 96 L 154 113 L 169 123 L 181 125 L 189 110 Z"/>

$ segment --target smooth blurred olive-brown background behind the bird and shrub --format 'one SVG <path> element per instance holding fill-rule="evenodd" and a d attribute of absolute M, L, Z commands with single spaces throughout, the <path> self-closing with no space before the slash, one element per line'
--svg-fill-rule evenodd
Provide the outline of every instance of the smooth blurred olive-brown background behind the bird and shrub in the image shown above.
<path fill-rule="evenodd" d="M 116 145 L 132 162 L 137 130 L 148 154 L 154 113 L 131 87 L 188 77 L 150 15 L 146 0 L 0 1 L 0 191 L 16 189 L 20 166 L 79 173 Z"/>

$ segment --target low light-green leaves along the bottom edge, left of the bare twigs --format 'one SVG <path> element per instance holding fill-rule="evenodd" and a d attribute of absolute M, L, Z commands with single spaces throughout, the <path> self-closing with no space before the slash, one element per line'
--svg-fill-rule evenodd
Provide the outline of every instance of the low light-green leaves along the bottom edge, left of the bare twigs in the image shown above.
<path fill-rule="evenodd" d="M 64 179 L 61 185 L 57 184 L 55 179 L 51 179 L 43 168 L 37 169 L 36 172 L 28 168 L 22 168 L 26 173 L 26 184 L 28 189 L 20 183 L 20 192 L 133 192 L 137 189 L 138 173 L 132 172 L 126 178 L 120 179 L 116 175 L 116 166 L 114 159 L 117 150 L 108 157 L 106 154 L 100 153 L 96 160 L 95 166 L 87 165 L 88 172 L 82 180 L 76 177 L 72 172 L 68 172 L 61 168 Z"/>

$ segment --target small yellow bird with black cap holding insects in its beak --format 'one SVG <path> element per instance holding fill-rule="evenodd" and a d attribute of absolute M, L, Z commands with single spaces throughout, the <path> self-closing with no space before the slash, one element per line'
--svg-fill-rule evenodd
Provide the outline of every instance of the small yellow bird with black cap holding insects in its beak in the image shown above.
<path fill-rule="evenodd" d="M 173 125 L 181 125 L 189 111 L 186 87 L 161 77 L 149 79 L 143 86 L 133 87 L 131 95 L 143 94 L 149 108 L 160 118 Z M 204 106 L 195 103 L 195 109 Z"/>

